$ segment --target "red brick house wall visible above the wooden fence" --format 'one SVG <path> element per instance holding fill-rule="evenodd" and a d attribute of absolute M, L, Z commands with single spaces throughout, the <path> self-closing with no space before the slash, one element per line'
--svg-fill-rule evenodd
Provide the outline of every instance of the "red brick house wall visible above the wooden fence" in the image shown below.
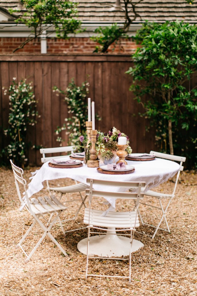
<path fill-rule="evenodd" d="M 16 49 L 25 38 L 0 38 L 0 52 L 11 53 Z M 68 40 L 58 39 L 58 38 L 49 38 L 47 39 L 47 53 L 51 54 L 72 54 L 72 53 L 87 53 L 90 54 L 95 50 L 97 44 L 90 40 L 89 38 L 78 38 L 73 37 Z M 117 43 L 115 49 L 111 45 L 109 47 L 109 53 L 124 53 L 130 54 L 136 50 L 135 42 L 131 40 L 122 39 Z M 40 53 L 40 38 L 36 38 L 29 43 L 27 43 L 24 48 L 17 50 L 17 53 Z"/>

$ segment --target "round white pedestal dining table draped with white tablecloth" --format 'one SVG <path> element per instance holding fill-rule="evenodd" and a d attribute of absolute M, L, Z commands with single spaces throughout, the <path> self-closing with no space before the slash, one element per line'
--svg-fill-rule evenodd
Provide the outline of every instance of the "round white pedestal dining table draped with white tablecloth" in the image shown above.
<path fill-rule="evenodd" d="M 65 157 L 68 159 L 68 157 Z M 63 160 L 63 158 L 61 158 Z M 118 158 L 117 158 L 118 160 Z M 87 178 L 108 180 L 108 181 L 133 181 L 133 182 L 146 182 L 146 189 L 152 189 L 153 187 L 166 182 L 169 178 L 172 178 L 179 170 L 180 165 L 170 160 L 161 158 L 155 158 L 151 161 L 131 161 L 127 160 L 128 165 L 133 165 L 135 171 L 130 174 L 111 175 L 102 174 L 97 171 L 97 168 L 89 168 L 83 164 L 78 168 L 53 168 L 47 163 L 44 163 L 42 167 L 33 173 L 32 180 L 28 186 L 27 193 L 31 197 L 33 194 L 39 192 L 44 187 L 46 180 L 55 180 L 60 178 L 71 178 L 76 181 L 87 184 Z M 102 168 L 102 165 L 101 165 Z M 97 185 L 95 190 L 102 190 L 102 187 Z M 120 192 L 122 188 L 108 187 L 108 191 Z M 125 189 L 127 190 L 127 189 Z M 115 209 L 115 200 L 106 198 L 108 202 L 109 210 Z M 112 233 L 109 231 L 109 233 Z M 142 242 L 133 240 L 132 252 L 135 252 L 139 248 L 143 247 Z M 87 253 L 87 238 L 82 239 L 78 245 L 78 250 L 86 254 Z M 90 237 L 89 253 L 102 257 L 113 256 L 126 256 L 129 254 L 130 239 L 123 236 L 116 235 L 115 229 L 113 234 L 97 235 Z"/>

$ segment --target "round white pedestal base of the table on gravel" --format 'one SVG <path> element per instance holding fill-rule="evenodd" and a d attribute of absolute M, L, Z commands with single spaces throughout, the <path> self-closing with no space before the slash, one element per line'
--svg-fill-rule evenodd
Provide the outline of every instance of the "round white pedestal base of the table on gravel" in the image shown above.
<path fill-rule="evenodd" d="M 144 247 L 142 242 L 133 239 L 131 252 Z M 77 244 L 77 249 L 84 255 L 87 255 L 87 238 L 82 239 Z M 90 237 L 89 255 L 100 257 L 121 257 L 128 256 L 130 252 L 130 238 L 118 236 L 116 234 L 95 235 Z"/>

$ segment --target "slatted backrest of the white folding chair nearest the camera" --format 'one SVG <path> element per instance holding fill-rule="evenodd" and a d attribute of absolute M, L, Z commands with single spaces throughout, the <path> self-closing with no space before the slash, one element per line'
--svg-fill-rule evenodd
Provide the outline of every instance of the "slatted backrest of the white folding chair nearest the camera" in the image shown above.
<path fill-rule="evenodd" d="M 141 191 L 144 190 L 146 185 L 145 182 L 116 182 L 116 181 L 105 181 L 105 180 L 96 180 L 96 179 L 87 179 L 88 184 L 90 184 L 89 189 L 86 189 L 86 194 L 89 195 L 89 204 L 91 204 L 92 196 L 107 197 L 107 198 L 118 198 L 118 199 L 133 199 L 136 200 L 136 206 L 139 204 L 140 198 L 144 197 L 144 193 Z M 105 191 L 105 188 L 102 190 L 93 189 L 94 185 L 100 186 L 110 186 L 110 187 L 120 187 L 135 189 L 136 192 L 108 192 Z"/>

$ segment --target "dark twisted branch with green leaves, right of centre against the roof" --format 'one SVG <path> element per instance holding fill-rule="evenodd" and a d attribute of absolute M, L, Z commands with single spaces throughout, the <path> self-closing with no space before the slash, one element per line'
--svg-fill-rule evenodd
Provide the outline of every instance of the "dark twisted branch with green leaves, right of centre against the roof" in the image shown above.
<path fill-rule="evenodd" d="M 108 4 L 104 3 L 102 6 L 106 9 L 110 8 L 114 11 L 123 11 L 125 15 L 125 20 L 123 25 L 117 25 L 116 23 L 108 27 L 99 27 L 94 32 L 97 36 L 93 36 L 91 39 L 99 44 L 96 46 L 94 52 L 108 52 L 108 48 L 111 44 L 114 44 L 114 48 L 120 40 L 120 38 L 129 38 L 128 30 L 130 25 L 138 18 L 141 20 L 141 16 L 138 13 L 138 4 L 142 3 L 144 0 L 122 0 L 119 4 Z M 115 2 L 115 1 L 114 1 Z M 194 0 L 183 0 L 189 4 L 193 4 Z"/>

